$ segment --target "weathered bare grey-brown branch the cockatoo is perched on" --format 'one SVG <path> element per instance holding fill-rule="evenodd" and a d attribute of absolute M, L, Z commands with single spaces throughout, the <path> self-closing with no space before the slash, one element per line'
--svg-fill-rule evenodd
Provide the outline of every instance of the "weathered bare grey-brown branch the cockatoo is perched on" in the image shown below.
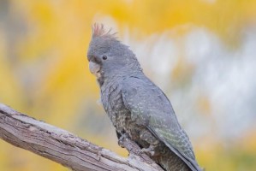
<path fill-rule="evenodd" d="M 124 158 L 61 128 L 21 114 L 2 103 L 0 138 L 77 171 L 163 170 L 141 153 L 140 147 L 130 139 L 122 140 L 122 146 L 129 151 L 128 158 Z"/>

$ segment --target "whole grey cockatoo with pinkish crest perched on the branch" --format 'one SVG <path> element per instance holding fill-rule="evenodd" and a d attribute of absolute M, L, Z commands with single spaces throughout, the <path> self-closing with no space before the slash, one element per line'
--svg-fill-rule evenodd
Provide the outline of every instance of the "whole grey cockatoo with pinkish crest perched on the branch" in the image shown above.
<path fill-rule="evenodd" d="M 119 138 L 132 139 L 165 170 L 201 170 L 169 99 L 143 74 L 127 45 L 95 24 L 87 59 Z"/>

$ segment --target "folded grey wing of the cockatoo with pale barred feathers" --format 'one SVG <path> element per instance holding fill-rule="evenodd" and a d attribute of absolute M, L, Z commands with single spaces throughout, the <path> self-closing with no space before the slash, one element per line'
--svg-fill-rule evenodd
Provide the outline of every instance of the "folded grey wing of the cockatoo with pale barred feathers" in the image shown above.
<path fill-rule="evenodd" d="M 122 98 L 131 111 L 132 120 L 146 126 L 192 170 L 200 170 L 188 135 L 179 125 L 168 98 L 146 77 L 129 77 L 122 81 Z"/>

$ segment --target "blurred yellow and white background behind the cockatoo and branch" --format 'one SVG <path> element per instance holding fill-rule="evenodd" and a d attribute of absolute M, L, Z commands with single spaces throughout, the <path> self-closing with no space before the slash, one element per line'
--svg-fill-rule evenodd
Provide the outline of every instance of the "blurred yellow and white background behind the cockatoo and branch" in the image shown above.
<path fill-rule="evenodd" d="M 128 44 L 206 171 L 256 170 L 255 0 L 0 0 L 0 103 L 126 156 L 88 71 L 93 22 Z M 0 139 L 0 170 L 68 170 Z"/>

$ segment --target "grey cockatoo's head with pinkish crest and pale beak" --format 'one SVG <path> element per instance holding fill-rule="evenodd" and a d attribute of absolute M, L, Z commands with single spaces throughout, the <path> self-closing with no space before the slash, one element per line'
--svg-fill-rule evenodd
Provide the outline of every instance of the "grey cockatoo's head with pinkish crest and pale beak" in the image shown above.
<path fill-rule="evenodd" d="M 105 79 L 140 72 L 140 63 L 127 45 L 116 39 L 116 33 L 106 32 L 104 25 L 94 24 L 87 59 L 89 68 L 100 85 Z"/>

